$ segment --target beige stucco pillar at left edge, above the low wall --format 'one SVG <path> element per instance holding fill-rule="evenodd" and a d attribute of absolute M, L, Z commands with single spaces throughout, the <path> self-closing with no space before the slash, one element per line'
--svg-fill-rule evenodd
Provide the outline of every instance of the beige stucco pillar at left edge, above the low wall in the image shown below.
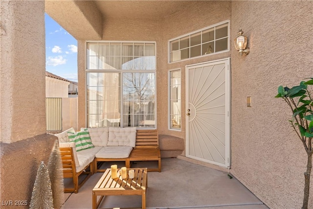
<path fill-rule="evenodd" d="M 44 2 L 1 1 L 1 142 L 45 133 L 44 14 Z"/>

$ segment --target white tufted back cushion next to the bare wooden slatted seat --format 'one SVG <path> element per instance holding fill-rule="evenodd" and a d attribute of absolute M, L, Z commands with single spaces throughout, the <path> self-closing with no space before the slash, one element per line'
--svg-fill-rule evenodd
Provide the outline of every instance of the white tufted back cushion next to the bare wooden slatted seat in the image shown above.
<path fill-rule="evenodd" d="M 109 127 L 108 146 L 132 146 L 136 145 L 136 127 L 118 128 Z"/>

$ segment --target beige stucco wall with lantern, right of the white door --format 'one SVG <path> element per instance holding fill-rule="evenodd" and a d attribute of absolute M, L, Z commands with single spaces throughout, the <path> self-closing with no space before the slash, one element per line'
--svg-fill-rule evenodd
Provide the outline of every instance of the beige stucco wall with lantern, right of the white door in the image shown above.
<path fill-rule="evenodd" d="M 231 45 L 231 173 L 268 207 L 301 208 L 307 157 L 289 125 L 289 107 L 274 96 L 278 86 L 313 75 L 313 1 L 231 5 L 231 35 L 241 26 L 250 47 L 240 58 Z M 252 107 L 246 107 L 246 96 Z M 309 208 L 312 197 L 311 186 Z"/>

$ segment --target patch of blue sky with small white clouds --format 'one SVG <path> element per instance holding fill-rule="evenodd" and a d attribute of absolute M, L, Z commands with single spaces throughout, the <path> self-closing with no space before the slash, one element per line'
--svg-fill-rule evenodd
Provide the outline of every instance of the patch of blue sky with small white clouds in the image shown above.
<path fill-rule="evenodd" d="M 45 14 L 45 70 L 77 82 L 77 41 Z"/>

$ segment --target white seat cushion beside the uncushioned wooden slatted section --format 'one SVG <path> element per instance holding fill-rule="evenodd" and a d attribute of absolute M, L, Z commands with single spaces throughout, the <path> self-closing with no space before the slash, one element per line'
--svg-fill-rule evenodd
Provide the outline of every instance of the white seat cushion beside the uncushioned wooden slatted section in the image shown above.
<path fill-rule="evenodd" d="M 96 158 L 128 158 L 133 150 L 132 146 L 106 146 L 96 154 Z"/>

